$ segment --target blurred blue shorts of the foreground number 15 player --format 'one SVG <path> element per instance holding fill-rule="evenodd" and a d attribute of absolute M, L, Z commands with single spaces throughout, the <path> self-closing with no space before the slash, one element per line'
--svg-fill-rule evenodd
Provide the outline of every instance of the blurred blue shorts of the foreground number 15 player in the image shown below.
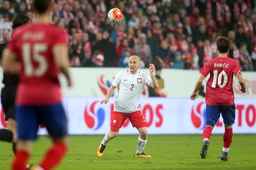
<path fill-rule="evenodd" d="M 67 117 L 61 103 L 47 106 L 17 105 L 17 133 L 22 140 L 35 140 L 43 123 L 53 137 L 67 136 Z"/>

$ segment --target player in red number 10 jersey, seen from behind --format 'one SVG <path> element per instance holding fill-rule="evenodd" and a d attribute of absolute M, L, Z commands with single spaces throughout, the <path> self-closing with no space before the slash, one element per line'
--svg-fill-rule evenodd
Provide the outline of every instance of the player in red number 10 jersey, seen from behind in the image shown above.
<path fill-rule="evenodd" d="M 240 72 L 239 63 L 236 60 L 227 57 L 229 46 L 230 41 L 227 37 L 220 37 L 217 40 L 219 57 L 211 59 L 199 70 L 200 77 L 190 96 L 191 100 L 195 100 L 197 91 L 202 85 L 203 80 L 210 74 L 205 95 L 206 127 L 203 131 L 203 147 L 200 152 L 202 159 L 205 159 L 207 156 L 212 129 L 216 125 L 221 114 L 225 127 L 221 160 L 227 161 L 227 153 L 232 142 L 232 125 L 235 122 L 236 111 L 236 105 L 234 103 L 233 75 L 236 76 L 241 85 L 240 91 L 243 93 L 246 92 L 245 80 Z"/>

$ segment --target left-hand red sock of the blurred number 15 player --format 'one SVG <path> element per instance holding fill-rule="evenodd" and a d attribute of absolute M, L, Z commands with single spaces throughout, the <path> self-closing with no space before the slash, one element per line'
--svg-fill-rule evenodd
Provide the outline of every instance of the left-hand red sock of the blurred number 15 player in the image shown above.
<path fill-rule="evenodd" d="M 16 150 L 15 159 L 12 162 L 12 170 L 26 170 L 28 159 L 29 153 L 23 150 Z"/>

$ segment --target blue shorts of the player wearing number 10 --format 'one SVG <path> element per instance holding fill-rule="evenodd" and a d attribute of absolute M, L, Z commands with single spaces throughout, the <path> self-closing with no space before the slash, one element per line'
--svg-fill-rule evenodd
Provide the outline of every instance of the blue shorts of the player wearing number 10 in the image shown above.
<path fill-rule="evenodd" d="M 224 124 L 231 125 L 235 123 L 236 105 L 230 106 L 209 106 L 206 105 L 206 125 L 216 125 L 220 114 Z"/>

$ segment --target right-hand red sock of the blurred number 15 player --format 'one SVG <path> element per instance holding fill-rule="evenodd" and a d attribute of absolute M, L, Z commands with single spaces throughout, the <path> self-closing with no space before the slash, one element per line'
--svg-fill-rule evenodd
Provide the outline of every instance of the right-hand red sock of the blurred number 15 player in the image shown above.
<path fill-rule="evenodd" d="M 48 150 L 46 155 L 44 156 L 43 161 L 40 166 L 44 168 L 44 170 L 50 170 L 55 167 L 63 158 L 67 151 L 67 146 L 61 143 L 53 144 L 52 148 Z"/>

